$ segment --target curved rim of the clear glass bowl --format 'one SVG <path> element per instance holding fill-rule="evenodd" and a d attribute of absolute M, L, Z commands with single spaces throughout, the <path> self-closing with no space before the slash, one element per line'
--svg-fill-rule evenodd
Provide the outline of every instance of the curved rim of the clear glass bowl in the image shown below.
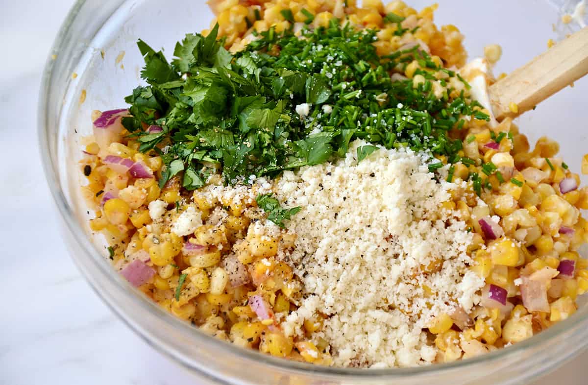
<path fill-rule="evenodd" d="M 59 29 L 54 45 L 52 46 L 51 53 L 61 51 L 61 47 L 64 45 L 66 39 L 71 37 L 69 32 L 71 32 L 70 29 L 73 21 L 78 16 L 82 6 L 89 1 L 91 0 L 78 0 L 75 2 L 74 6 L 72 6 L 64 22 L 62 23 L 61 28 Z M 49 122 L 47 117 L 48 114 L 51 113 L 51 100 L 49 99 L 49 91 L 51 80 L 55 76 L 56 69 L 58 69 L 58 66 L 55 65 L 55 58 L 52 58 L 51 56 L 52 55 L 50 54 L 46 60 L 41 82 L 38 105 L 38 139 L 45 177 L 48 182 L 49 190 L 51 191 L 51 194 L 55 200 L 56 207 L 58 208 L 59 215 L 65 222 L 67 230 L 74 236 L 75 241 L 78 242 L 79 246 L 81 246 L 82 250 L 85 252 L 83 257 L 91 260 L 91 263 L 95 268 L 93 273 L 101 274 L 103 278 L 109 281 L 109 284 L 112 284 L 121 292 L 121 298 L 124 297 L 125 300 L 132 301 L 134 305 L 141 309 L 141 312 L 151 313 L 152 315 L 155 313 L 156 317 L 161 322 L 172 324 L 175 329 L 182 333 L 183 339 L 189 340 L 189 343 L 206 344 L 211 346 L 212 349 L 215 349 L 215 351 L 220 354 L 228 354 L 229 356 L 235 357 L 237 359 L 243 359 L 245 361 L 250 361 L 252 363 L 262 363 L 266 366 L 272 367 L 273 369 L 282 370 L 284 373 L 308 375 L 310 372 L 312 372 L 314 375 L 324 379 L 329 379 L 329 377 L 334 376 L 338 377 L 339 379 L 345 379 L 346 381 L 353 381 L 354 379 L 366 380 L 369 378 L 380 380 L 406 379 L 407 377 L 418 376 L 422 374 L 442 374 L 459 369 L 474 369 L 479 364 L 486 365 L 492 364 L 493 362 L 504 362 L 510 357 L 515 356 L 517 353 L 522 353 L 526 350 L 539 349 L 539 347 L 547 345 L 549 342 L 552 342 L 554 339 L 557 339 L 557 337 L 562 336 L 562 334 L 566 332 L 572 333 L 570 334 L 570 340 L 574 340 L 575 342 L 585 341 L 586 337 L 588 337 L 588 327 L 584 327 L 586 324 L 588 324 L 588 313 L 576 313 L 569 319 L 549 327 L 549 329 L 544 330 L 542 333 L 532 337 L 531 339 L 516 343 L 513 346 L 493 351 L 491 353 L 483 354 L 482 356 L 473 357 L 467 360 L 459 360 L 452 363 L 432 364 L 429 366 L 365 370 L 355 368 L 313 366 L 311 364 L 279 359 L 259 353 L 258 351 L 240 348 L 234 344 L 223 342 L 222 340 L 208 336 L 208 334 L 199 332 L 193 326 L 176 319 L 175 317 L 160 309 L 155 304 L 149 302 L 144 297 L 139 295 L 138 290 L 130 286 L 128 282 L 119 276 L 119 274 L 113 274 L 111 266 L 103 263 L 104 257 L 101 255 L 96 246 L 93 245 L 89 237 L 83 231 L 82 227 L 78 224 L 74 210 L 72 209 L 71 205 L 69 205 L 62 189 L 62 185 L 59 179 L 59 164 L 58 162 L 55 162 L 55 158 L 51 156 L 54 148 L 49 146 L 48 140 Z M 82 270 L 82 273 L 84 274 L 86 280 L 88 280 L 88 282 L 91 284 L 94 292 L 99 297 L 101 297 L 101 299 L 113 310 L 113 312 L 115 312 L 115 314 L 117 314 L 121 320 L 123 320 L 123 322 L 128 324 L 128 326 L 131 327 L 131 329 L 141 336 L 147 343 L 151 344 L 151 346 L 155 347 L 155 349 L 159 350 L 161 353 L 166 354 L 166 356 L 172 357 L 172 359 L 181 363 L 184 367 L 186 367 L 186 369 L 195 370 L 199 373 L 210 375 L 210 373 L 205 373 L 202 371 L 201 367 L 194 366 L 191 360 L 182 357 L 182 355 L 178 353 L 178 349 L 175 348 L 174 343 L 166 341 L 165 336 L 153 336 L 151 333 L 146 332 L 144 329 L 142 329 L 142 327 L 138 326 L 137 324 L 140 322 L 136 322 L 136 320 L 140 318 L 140 314 L 135 314 L 134 316 L 127 316 L 124 314 L 124 312 L 118 309 L 118 307 L 115 305 L 115 303 L 120 301 L 117 301 L 114 297 L 107 297 L 103 295 L 101 290 L 99 290 L 99 288 L 91 282 L 91 279 L 88 276 L 88 272 L 86 272 L 85 269 L 82 269 L 77 261 L 74 262 L 76 262 L 76 265 L 78 265 L 80 270 Z M 155 341 L 158 341 L 159 343 L 154 343 Z M 586 343 L 583 343 L 583 346 L 585 347 Z M 578 354 L 581 350 L 582 349 L 576 349 L 574 354 Z M 566 357 L 566 359 L 567 358 L 569 357 Z M 561 363 L 563 360 L 564 359 L 557 361 L 557 364 Z M 556 364 L 552 365 L 552 367 L 554 366 L 556 366 Z M 552 369 L 552 367 L 549 369 Z"/>

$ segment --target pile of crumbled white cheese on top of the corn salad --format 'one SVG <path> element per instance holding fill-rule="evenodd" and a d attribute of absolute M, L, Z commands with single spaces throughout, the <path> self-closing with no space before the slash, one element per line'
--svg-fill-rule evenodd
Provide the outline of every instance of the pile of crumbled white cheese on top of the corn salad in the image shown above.
<path fill-rule="evenodd" d="M 439 214 L 457 186 L 433 180 L 422 156 L 380 149 L 358 164 L 363 144 L 353 143 L 335 165 L 288 171 L 275 183 L 283 205 L 301 207 L 288 224 L 298 237 L 287 262 L 304 296 L 283 327 L 301 334 L 305 319 L 327 314 L 318 336 L 337 366 L 430 363 L 437 351 L 423 328 L 450 312 L 453 299 L 466 311 L 479 302 L 483 281 L 466 267 L 472 235 L 450 213 Z M 422 274 L 435 259 L 443 259 L 440 271 Z M 435 293 L 429 299 L 424 285 Z"/>

